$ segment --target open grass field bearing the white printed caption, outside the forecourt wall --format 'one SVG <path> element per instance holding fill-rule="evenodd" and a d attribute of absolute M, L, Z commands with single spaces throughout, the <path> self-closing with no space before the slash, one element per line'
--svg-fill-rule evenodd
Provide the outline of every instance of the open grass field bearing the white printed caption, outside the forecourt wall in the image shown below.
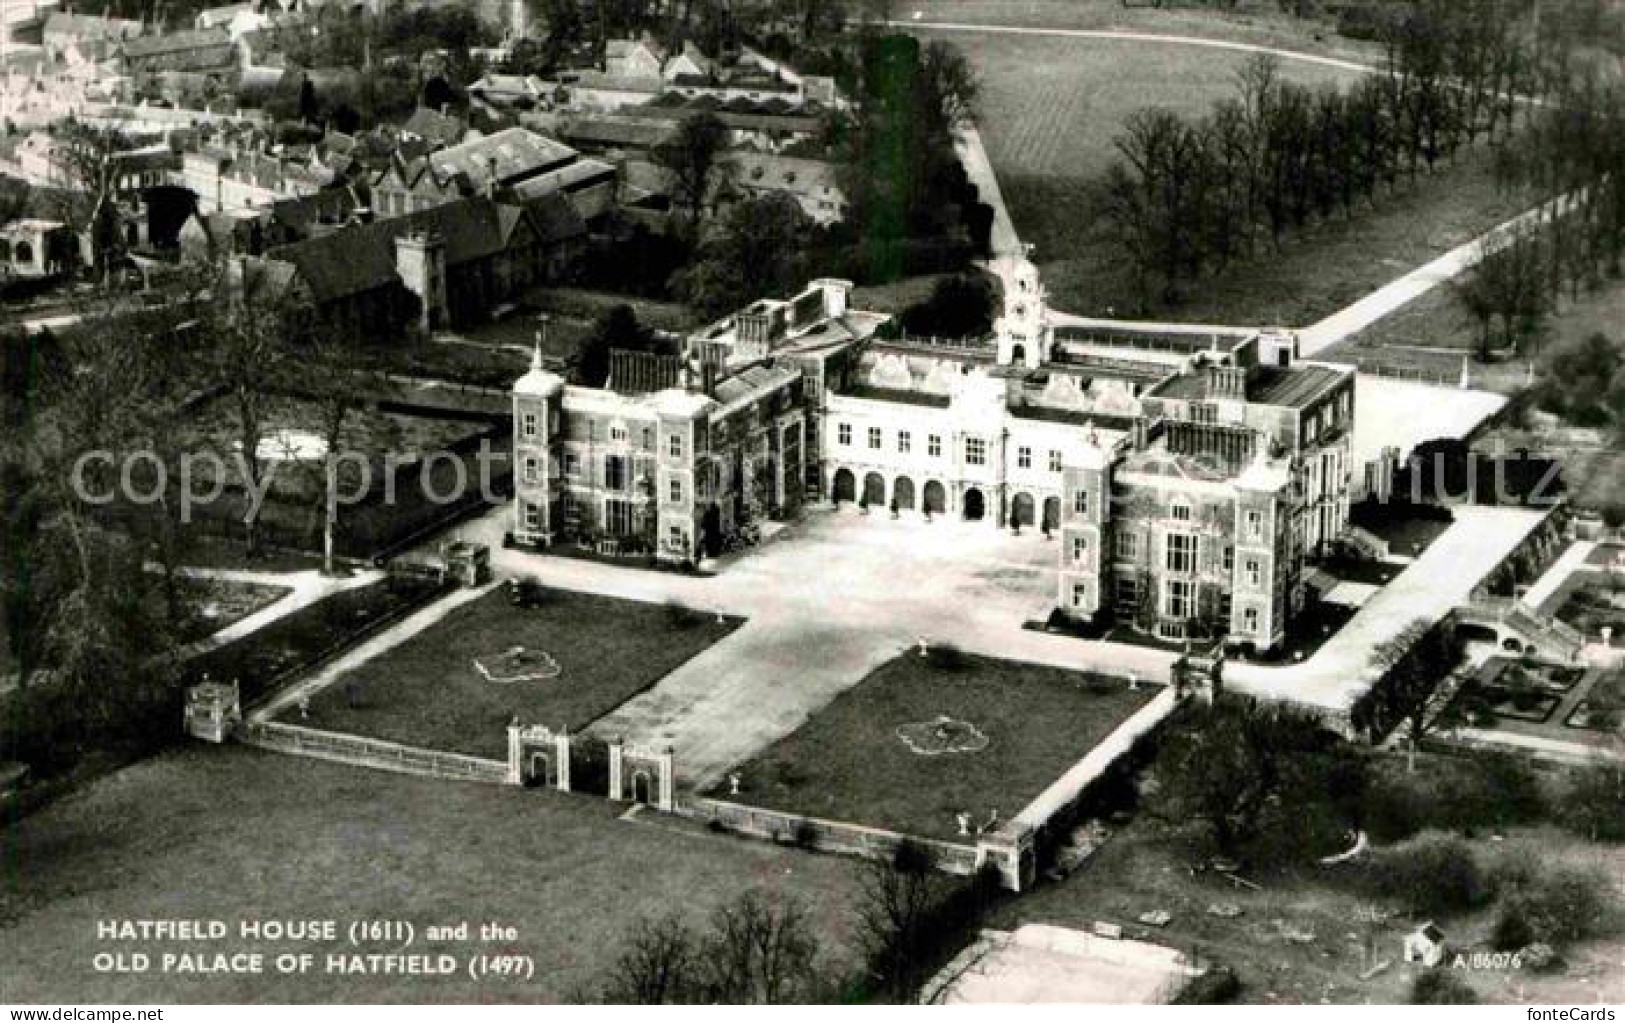
<path fill-rule="evenodd" d="M 645 916 L 696 924 L 759 888 L 806 903 L 848 968 L 858 865 L 679 822 L 619 822 L 624 805 L 552 791 L 431 781 L 193 745 L 8 823 L 0 843 L 0 1002 L 559 1002 L 595 989 Z M 240 952 L 240 940 L 96 940 L 102 919 L 408 921 L 410 952 L 512 952 L 528 981 L 96 973 L 98 952 Z M 518 939 L 436 943 L 424 927 L 500 922 Z M 292 943 L 265 952 L 301 950 Z M 327 952 L 346 947 L 317 945 Z M 367 952 L 382 952 L 370 947 Z"/>

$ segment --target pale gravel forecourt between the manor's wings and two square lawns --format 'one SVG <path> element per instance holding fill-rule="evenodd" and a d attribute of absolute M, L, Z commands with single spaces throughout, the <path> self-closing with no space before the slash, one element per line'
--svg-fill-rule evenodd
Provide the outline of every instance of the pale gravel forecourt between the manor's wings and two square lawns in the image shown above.
<path fill-rule="evenodd" d="M 710 578 L 500 549 L 504 515 L 460 533 L 492 542 L 499 573 L 640 601 L 679 599 L 744 627 L 596 721 L 598 736 L 668 740 L 704 784 L 788 736 L 874 667 L 916 645 L 1060 667 L 1167 677 L 1172 656 L 1024 630 L 1053 606 L 1055 541 L 988 523 L 816 508 Z"/>

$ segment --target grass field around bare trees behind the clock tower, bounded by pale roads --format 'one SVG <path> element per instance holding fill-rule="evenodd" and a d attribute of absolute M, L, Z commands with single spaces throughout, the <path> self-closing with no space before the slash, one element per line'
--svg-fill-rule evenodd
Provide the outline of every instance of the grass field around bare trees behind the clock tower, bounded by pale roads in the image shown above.
<path fill-rule="evenodd" d="M 944 39 L 964 32 L 936 32 Z M 1124 120 L 1144 107 L 1201 115 L 1235 91 L 1242 52 L 1167 42 L 978 36 L 978 125 L 1011 218 L 1056 309 L 1081 315 L 1233 325 L 1308 325 L 1477 237 L 1532 205 L 1497 188 L 1480 151 L 1383 195 L 1373 211 L 1290 235 L 1190 286 L 1138 299 L 1100 216 L 1095 180 L 1116 158 Z M 1285 62 L 1290 80 L 1344 86 L 1358 71 Z"/>

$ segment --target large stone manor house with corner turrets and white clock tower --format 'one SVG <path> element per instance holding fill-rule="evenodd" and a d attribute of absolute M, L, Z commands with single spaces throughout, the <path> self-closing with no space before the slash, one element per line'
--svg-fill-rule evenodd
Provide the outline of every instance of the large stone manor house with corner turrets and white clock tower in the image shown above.
<path fill-rule="evenodd" d="M 687 560 L 853 502 L 1042 533 L 1079 622 L 1279 645 L 1306 559 L 1347 524 L 1354 369 L 1300 360 L 1287 333 L 1058 338 L 1037 270 L 1004 279 L 988 339 L 895 336 L 822 279 L 681 357 L 618 352 L 604 388 L 535 365 L 514 388 L 515 541 Z"/>

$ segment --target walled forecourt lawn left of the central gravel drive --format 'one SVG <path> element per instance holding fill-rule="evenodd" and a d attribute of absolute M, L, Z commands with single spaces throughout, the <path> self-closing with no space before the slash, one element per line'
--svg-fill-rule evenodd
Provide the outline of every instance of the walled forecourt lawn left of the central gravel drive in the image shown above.
<path fill-rule="evenodd" d="M 580 731 L 717 643 L 739 619 L 673 614 L 554 589 L 540 607 L 514 607 L 505 588 L 465 604 L 406 643 L 367 661 L 286 721 L 457 753 L 504 757 L 509 721 Z M 548 653 L 554 679 L 489 682 L 514 646 Z M 520 672 L 515 672 L 520 674 Z"/>

